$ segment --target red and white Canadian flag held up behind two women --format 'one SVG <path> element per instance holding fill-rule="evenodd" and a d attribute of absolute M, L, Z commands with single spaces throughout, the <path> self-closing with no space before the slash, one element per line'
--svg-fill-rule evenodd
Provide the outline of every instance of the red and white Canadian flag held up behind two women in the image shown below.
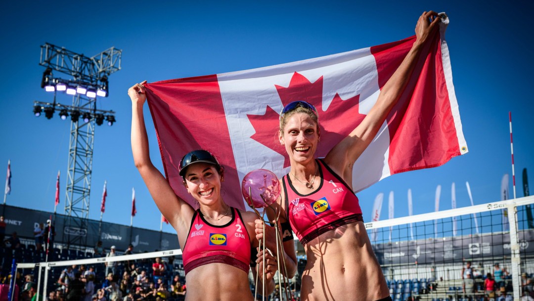
<path fill-rule="evenodd" d="M 448 20 L 447 20 L 448 23 Z M 394 173 L 437 167 L 467 153 L 452 85 L 446 23 L 426 44 L 409 84 L 379 133 L 354 164 L 355 192 Z M 289 158 L 278 142 L 279 112 L 305 100 L 319 113 L 324 157 L 363 120 L 415 37 L 402 41 L 241 72 L 146 84 L 165 176 L 193 204 L 178 163 L 194 149 L 225 167 L 223 197 L 244 209 L 240 181 L 254 169 L 279 177 Z"/>

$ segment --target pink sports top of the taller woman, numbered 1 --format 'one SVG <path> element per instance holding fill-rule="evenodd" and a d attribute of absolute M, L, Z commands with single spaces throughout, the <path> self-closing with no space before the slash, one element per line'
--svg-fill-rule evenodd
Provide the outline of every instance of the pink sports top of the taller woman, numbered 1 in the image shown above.
<path fill-rule="evenodd" d="M 358 197 L 323 160 L 319 164 L 321 183 L 315 192 L 300 194 L 289 174 L 282 178 L 289 224 L 302 244 L 342 225 L 363 221 Z"/>

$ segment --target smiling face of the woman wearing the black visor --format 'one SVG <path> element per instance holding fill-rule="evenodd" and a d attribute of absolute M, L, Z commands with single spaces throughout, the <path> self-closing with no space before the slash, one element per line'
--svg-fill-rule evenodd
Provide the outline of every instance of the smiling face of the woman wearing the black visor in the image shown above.
<path fill-rule="evenodd" d="M 187 167 L 185 188 L 200 204 L 213 204 L 221 198 L 221 175 L 215 165 L 199 162 Z"/>

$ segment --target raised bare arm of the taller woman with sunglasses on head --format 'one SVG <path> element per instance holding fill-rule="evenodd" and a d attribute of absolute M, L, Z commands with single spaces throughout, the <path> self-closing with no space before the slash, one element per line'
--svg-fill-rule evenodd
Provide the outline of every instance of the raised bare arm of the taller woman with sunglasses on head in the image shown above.
<path fill-rule="evenodd" d="M 347 138 L 334 146 L 325 157 L 325 162 L 335 172 L 342 175 L 347 183 L 352 182 L 352 165 L 374 139 L 391 108 L 395 106 L 400 95 L 404 92 L 421 50 L 433 31 L 437 30 L 439 20 L 437 13 L 433 11 L 421 14 L 415 26 L 416 39 L 412 49 L 406 54 L 406 57 L 388 82 L 382 87 L 376 104 L 371 108 L 369 114 L 365 116 L 362 123 Z"/>

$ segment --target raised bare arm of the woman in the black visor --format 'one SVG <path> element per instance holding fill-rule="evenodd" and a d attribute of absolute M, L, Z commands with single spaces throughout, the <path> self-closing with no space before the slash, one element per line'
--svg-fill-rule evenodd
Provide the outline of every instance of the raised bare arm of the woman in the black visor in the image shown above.
<path fill-rule="evenodd" d="M 137 170 L 145 181 L 158 209 L 175 228 L 178 233 L 178 240 L 180 244 L 183 244 L 194 210 L 174 193 L 168 181 L 150 160 L 143 115 L 143 105 L 146 101 L 145 83 L 146 81 L 135 84 L 128 90 L 128 96 L 132 101 L 131 145 L 133 162 L 135 162 Z"/>

